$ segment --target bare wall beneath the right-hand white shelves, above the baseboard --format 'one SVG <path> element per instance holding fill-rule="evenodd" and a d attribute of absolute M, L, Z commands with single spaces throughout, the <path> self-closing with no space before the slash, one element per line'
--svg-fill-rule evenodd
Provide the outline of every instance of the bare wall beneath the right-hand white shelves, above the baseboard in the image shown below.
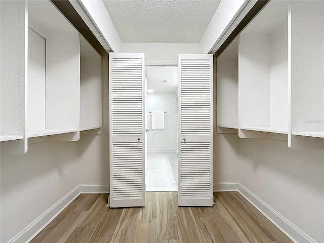
<path fill-rule="evenodd" d="M 287 141 L 214 136 L 214 184 L 239 182 L 316 242 L 324 242 L 324 151 Z"/>

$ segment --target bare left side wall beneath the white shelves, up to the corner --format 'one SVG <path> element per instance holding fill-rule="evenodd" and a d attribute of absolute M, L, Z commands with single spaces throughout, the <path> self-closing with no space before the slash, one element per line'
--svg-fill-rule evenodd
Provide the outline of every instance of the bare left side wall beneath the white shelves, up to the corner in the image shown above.
<path fill-rule="evenodd" d="M 8 242 L 79 184 L 76 143 L 29 144 L 25 155 L 1 143 L 1 239 Z"/>

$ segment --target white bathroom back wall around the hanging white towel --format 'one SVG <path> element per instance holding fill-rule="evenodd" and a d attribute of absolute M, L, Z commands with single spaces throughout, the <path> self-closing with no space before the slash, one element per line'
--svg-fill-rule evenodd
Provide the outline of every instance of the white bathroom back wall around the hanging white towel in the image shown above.
<path fill-rule="evenodd" d="M 177 151 L 176 94 L 147 94 L 147 149 L 149 151 Z M 167 111 L 165 129 L 152 130 L 149 111 Z"/>

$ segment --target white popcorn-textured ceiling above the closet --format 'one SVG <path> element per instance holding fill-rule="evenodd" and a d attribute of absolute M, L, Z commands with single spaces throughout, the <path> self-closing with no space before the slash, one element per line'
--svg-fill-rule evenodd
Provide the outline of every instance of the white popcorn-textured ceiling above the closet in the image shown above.
<path fill-rule="evenodd" d="M 199 43 L 220 0 L 103 0 L 121 41 Z"/>

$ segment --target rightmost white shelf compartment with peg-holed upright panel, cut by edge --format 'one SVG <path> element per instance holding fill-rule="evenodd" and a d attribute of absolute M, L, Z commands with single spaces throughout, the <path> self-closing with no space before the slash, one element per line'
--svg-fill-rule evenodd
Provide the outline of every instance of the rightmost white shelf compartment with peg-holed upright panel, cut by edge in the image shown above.
<path fill-rule="evenodd" d="M 299 136 L 292 136 L 288 146 L 324 149 L 324 2 L 292 4 L 290 127 Z"/>

